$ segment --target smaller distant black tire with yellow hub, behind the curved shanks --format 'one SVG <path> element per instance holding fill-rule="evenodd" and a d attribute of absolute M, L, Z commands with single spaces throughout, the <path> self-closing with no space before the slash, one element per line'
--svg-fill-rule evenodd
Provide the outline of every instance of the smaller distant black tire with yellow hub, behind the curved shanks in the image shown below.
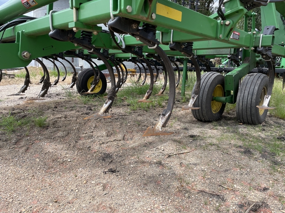
<path fill-rule="evenodd" d="M 84 92 L 88 92 L 91 85 L 88 85 L 88 82 L 92 83 L 94 78 L 94 72 L 92 68 L 84 69 L 78 74 L 77 81 L 76 81 L 76 88 L 79 94 Z M 82 94 L 82 95 L 102 95 L 106 92 L 107 89 L 107 80 L 105 75 L 100 71 L 100 80 L 99 80 L 99 88 L 97 88 L 97 92 L 93 94 Z M 95 88 L 96 90 L 96 88 Z"/>

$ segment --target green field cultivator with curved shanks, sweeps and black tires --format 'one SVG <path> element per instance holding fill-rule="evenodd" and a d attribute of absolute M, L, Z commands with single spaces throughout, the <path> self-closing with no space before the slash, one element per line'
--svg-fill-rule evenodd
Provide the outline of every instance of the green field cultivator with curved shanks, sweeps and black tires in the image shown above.
<path fill-rule="evenodd" d="M 285 0 L 220 0 L 217 12 L 211 16 L 179 5 L 176 0 L 72 0 L 69 8 L 60 11 L 53 10 L 53 2 L 10 0 L 0 6 L 0 69 L 26 69 L 36 60 L 44 69 L 39 98 L 51 86 L 48 71 L 39 58 L 53 62 L 71 56 L 84 60 L 91 68 L 77 76 L 73 67 L 69 88 L 76 82 L 81 94 L 103 94 L 107 83 L 102 71 L 107 70 L 111 80 L 106 102 L 98 113 L 86 119 L 109 117 L 106 113 L 127 79 L 124 61 L 133 62 L 140 70 L 137 82 L 143 76 L 143 85 L 147 76 L 150 78 L 149 88 L 139 102 L 150 102 L 153 84 L 159 77 L 158 67 L 162 68 L 164 83 L 156 95 L 164 95 L 168 84 L 168 103 L 158 122 L 143 136 L 172 134 L 162 128 L 170 119 L 180 76 L 185 95 L 189 62 L 196 83 L 183 109 L 191 109 L 197 120 L 217 120 L 226 103 L 237 103 L 239 121 L 260 124 L 268 109 L 273 108 L 269 103 L 274 78 L 285 64 Z M 44 5 L 44 17 L 23 15 Z M 256 14 L 251 9 L 256 7 L 261 7 L 262 33 L 255 29 Z M 243 17 L 244 27 L 240 30 L 237 24 Z M 209 60 L 216 57 L 227 57 L 233 67 L 211 67 Z M 93 59 L 102 64 L 97 65 Z M 182 63 L 183 69 L 176 63 Z M 202 76 L 201 70 L 206 71 Z M 260 70 L 266 70 L 266 74 Z M 29 86 L 26 71 L 27 81 L 16 95 Z M 281 75 L 284 78 L 284 72 Z M 53 85 L 58 80 L 59 74 Z"/>

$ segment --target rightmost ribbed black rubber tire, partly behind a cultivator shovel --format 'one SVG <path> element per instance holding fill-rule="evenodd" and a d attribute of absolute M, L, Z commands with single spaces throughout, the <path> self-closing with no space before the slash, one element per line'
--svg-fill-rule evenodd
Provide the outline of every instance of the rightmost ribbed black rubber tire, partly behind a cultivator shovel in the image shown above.
<path fill-rule="evenodd" d="M 239 122 L 258 125 L 265 120 L 268 109 L 261 110 L 256 106 L 263 104 L 268 84 L 268 76 L 262 73 L 251 73 L 244 77 L 237 97 L 236 113 Z"/>

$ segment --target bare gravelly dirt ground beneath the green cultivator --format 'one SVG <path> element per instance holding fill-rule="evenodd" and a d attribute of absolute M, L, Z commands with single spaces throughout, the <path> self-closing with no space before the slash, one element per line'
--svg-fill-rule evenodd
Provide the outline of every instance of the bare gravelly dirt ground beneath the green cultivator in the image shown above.
<path fill-rule="evenodd" d="M 263 147 L 285 144 L 284 120 L 241 125 L 230 111 L 202 123 L 176 102 L 165 128 L 175 133 L 142 137 L 162 108 L 122 104 L 111 118 L 83 120 L 101 105 L 69 100 L 60 87 L 41 102 L 26 101 L 36 85 L 6 96 L 20 87 L 0 86 L 0 117 L 46 115 L 48 125 L 0 131 L 0 213 L 285 212 L 285 159 Z"/>

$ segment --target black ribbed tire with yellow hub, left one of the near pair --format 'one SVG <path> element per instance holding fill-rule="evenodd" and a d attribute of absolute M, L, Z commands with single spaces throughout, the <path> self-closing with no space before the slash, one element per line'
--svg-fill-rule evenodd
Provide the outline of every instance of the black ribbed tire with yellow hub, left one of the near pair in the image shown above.
<path fill-rule="evenodd" d="M 192 90 L 194 92 L 195 85 Z M 192 109 L 192 115 L 195 119 L 203 122 L 216 121 L 221 118 L 226 103 L 212 101 L 214 92 L 225 96 L 225 78 L 218 72 L 207 72 L 201 76 L 201 87 L 199 96 L 193 106 L 200 109 Z M 217 93 L 218 92 L 218 93 Z"/>

